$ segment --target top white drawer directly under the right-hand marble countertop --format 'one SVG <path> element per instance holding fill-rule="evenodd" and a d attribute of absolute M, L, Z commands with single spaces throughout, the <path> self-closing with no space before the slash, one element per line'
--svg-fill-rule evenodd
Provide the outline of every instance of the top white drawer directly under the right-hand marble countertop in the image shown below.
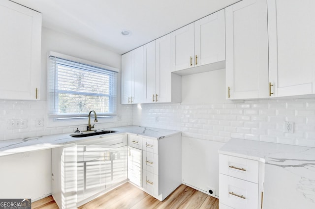
<path fill-rule="evenodd" d="M 259 162 L 252 159 L 220 154 L 220 173 L 258 183 Z"/>

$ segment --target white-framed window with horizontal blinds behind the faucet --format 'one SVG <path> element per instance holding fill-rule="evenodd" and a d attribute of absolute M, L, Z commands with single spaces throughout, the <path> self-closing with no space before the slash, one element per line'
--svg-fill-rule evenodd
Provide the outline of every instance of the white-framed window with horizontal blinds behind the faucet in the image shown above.
<path fill-rule="evenodd" d="M 49 117 L 83 119 L 95 110 L 98 118 L 116 114 L 116 69 L 56 52 L 48 57 Z"/>

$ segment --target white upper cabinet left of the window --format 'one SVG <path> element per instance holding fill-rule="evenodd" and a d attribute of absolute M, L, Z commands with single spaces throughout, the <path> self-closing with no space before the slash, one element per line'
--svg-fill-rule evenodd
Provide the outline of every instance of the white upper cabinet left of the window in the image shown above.
<path fill-rule="evenodd" d="M 0 0 L 0 19 L 0 99 L 38 100 L 42 15 Z"/>

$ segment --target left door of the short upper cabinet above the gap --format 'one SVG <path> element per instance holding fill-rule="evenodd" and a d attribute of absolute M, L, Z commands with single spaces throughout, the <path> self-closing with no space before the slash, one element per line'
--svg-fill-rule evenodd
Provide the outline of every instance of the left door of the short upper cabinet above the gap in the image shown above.
<path fill-rule="evenodd" d="M 194 66 L 193 23 L 171 33 L 172 72 Z"/>

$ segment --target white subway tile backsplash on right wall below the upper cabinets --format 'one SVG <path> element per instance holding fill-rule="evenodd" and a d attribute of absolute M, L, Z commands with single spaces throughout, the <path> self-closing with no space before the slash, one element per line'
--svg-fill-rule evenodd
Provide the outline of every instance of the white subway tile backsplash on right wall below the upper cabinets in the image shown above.
<path fill-rule="evenodd" d="M 147 109 L 165 108 L 162 104 L 142 105 L 142 113 L 133 111 L 133 124 L 158 125 Z M 315 99 L 283 99 L 233 102 L 226 104 L 172 104 L 165 122 L 177 127 L 183 135 L 226 142 L 232 138 L 297 144 L 315 147 Z M 181 118 L 175 121 L 172 118 Z M 293 134 L 284 133 L 284 121 L 295 125 Z M 174 124 L 172 124 L 174 123 Z M 199 130 L 199 131 L 197 131 Z"/>

